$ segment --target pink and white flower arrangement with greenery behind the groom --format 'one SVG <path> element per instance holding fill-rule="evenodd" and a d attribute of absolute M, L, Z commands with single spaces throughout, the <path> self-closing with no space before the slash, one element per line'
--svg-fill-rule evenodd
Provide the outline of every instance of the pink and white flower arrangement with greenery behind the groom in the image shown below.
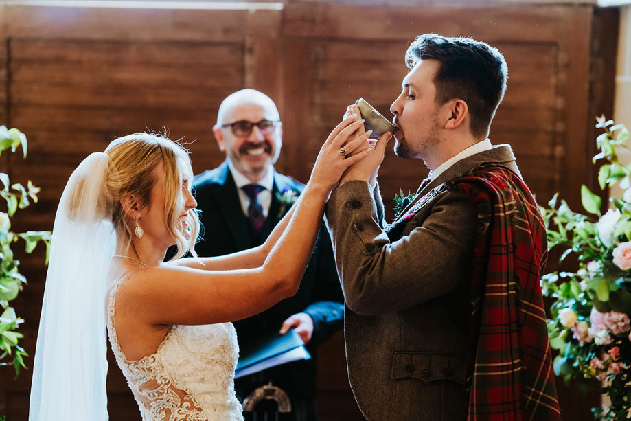
<path fill-rule="evenodd" d="M 554 299 L 548 320 L 550 344 L 559 351 L 554 372 L 581 389 L 598 389 L 610 405 L 594 408 L 604 420 L 631 418 L 631 165 L 618 159 L 616 148 L 626 148 L 629 131 L 604 117 L 597 118 L 604 133 L 596 139 L 604 159 L 598 172 L 602 190 L 619 184 L 621 198 L 611 198 L 612 209 L 601 214 L 601 198 L 581 187 L 588 215 L 573 212 L 558 194 L 542 207 L 548 246 L 560 249 L 560 261 L 575 258 L 576 271 L 544 275 L 542 292 Z M 589 379 L 600 383 L 589 382 Z"/>

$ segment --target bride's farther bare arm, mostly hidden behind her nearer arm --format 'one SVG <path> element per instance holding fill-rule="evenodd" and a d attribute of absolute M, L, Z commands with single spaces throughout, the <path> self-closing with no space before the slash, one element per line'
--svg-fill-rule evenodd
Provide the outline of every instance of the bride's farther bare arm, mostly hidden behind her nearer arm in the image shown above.
<path fill-rule="evenodd" d="M 276 227 L 274 227 L 267 240 L 260 246 L 213 258 L 181 258 L 168 264 L 203 271 L 228 271 L 231 269 L 249 269 L 263 266 L 272 247 L 274 247 L 277 240 L 285 231 L 295 208 L 296 206 L 292 206 L 291 209 L 289 209 L 289 212 L 287 212 Z"/>

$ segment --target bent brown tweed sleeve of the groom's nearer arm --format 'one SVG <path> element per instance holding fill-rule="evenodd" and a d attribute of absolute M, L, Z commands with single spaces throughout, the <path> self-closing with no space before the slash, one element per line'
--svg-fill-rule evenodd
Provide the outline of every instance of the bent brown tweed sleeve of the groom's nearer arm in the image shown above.
<path fill-rule="evenodd" d="M 467 282 L 477 214 L 460 192 L 437 196 L 393 240 L 364 181 L 337 187 L 325 216 L 346 304 L 358 314 L 407 308 Z"/>

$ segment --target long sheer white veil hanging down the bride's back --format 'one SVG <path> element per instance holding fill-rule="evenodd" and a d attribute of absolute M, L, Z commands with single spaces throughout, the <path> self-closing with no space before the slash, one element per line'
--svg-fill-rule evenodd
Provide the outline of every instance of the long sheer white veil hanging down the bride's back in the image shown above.
<path fill-rule="evenodd" d="M 118 177 L 89 155 L 61 196 L 37 337 L 29 421 L 107 420 L 106 275 Z"/>

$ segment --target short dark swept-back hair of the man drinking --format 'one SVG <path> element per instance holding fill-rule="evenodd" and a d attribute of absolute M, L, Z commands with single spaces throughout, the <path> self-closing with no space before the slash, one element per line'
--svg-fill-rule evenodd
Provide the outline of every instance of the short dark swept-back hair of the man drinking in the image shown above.
<path fill-rule="evenodd" d="M 438 104 L 455 98 L 466 102 L 471 133 L 485 139 L 506 91 L 508 68 L 502 53 L 472 38 L 424 34 L 410 45 L 405 60 L 412 69 L 425 59 L 440 62 L 433 80 Z"/>

